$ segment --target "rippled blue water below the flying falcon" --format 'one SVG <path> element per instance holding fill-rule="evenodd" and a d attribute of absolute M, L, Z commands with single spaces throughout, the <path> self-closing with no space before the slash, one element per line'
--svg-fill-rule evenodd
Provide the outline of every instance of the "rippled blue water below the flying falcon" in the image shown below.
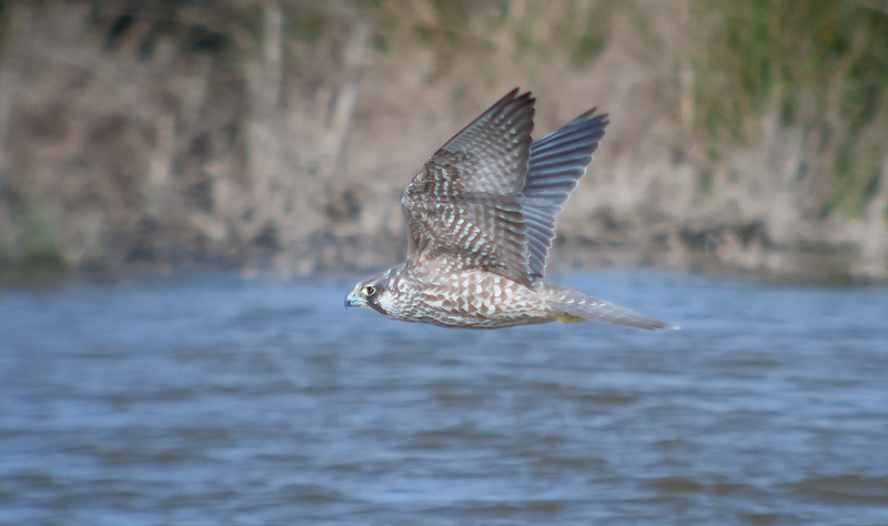
<path fill-rule="evenodd" d="M 352 280 L 0 292 L 0 524 L 888 524 L 888 291 L 561 282 L 494 332 Z"/>

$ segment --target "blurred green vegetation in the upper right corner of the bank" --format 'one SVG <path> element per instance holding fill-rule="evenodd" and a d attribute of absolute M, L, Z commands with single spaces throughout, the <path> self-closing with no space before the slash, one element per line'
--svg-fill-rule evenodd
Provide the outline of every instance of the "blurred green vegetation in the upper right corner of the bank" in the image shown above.
<path fill-rule="evenodd" d="M 841 0 L 699 0 L 722 20 L 698 61 L 697 125 L 714 141 L 748 140 L 746 125 L 778 111 L 820 159 L 823 213 L 860 216 L 888 143 L 888 12 Z M 831 162 L 829 161 L 831 159 Z M 809 165 L 818 164 L 808 162 Z"/>

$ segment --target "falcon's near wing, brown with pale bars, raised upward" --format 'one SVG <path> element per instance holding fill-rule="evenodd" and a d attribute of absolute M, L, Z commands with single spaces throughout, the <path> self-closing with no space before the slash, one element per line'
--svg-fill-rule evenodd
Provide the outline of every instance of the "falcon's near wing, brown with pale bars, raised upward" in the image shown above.
<path fill-rule="evenodd" d="M 407 264 L 442 254 L 531 284 L 521 191 L 534 99 L 515 89 L 447 141 L 404 190 Z"/>

